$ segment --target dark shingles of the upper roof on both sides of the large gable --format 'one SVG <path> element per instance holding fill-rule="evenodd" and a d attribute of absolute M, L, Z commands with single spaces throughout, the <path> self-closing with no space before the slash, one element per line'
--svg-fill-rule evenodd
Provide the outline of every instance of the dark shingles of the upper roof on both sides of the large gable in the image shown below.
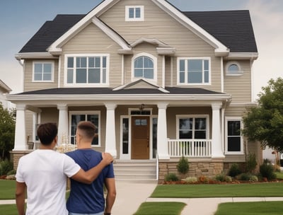
<path fill-rule="evenodd" d="M 200 25 L 231 52 L 258 52 L 249 11 L 182 12 Z M 54 41 L 86 15 L 57 15 L 47 21 L 25 44 L 20 53 L 46 52 Z"/>

